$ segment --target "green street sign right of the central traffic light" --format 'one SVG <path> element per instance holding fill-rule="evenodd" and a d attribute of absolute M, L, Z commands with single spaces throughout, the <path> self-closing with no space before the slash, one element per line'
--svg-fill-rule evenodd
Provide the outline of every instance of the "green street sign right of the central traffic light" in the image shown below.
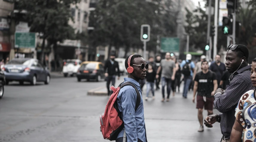
<path fill-rule="evenodd" d="M 163 52 L 179 52 L 179 38 L 161 38 L 161 50 Z"/>

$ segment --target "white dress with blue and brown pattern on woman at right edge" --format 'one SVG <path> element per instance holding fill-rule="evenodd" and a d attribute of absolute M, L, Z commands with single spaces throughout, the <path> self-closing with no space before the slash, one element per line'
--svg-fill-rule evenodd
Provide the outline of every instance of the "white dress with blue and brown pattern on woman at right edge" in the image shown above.
<path fill-rule="evenodd" d="M 244 127 L 242 141 L 256 142 L 256 101 L 254 90 L 246 92 L 238 102 L 236 120 Z"/>

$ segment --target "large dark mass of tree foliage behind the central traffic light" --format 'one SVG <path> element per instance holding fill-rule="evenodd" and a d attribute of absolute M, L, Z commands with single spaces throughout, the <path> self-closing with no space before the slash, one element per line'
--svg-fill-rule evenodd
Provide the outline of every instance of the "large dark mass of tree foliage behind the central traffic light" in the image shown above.
<path fill-rule="evenodd" d="M 169 35 L 176 31 L 175 15 L 168 10 L 169 7 L 164 8 L 157 0 L 99 0 L 89 17 L 95 27 L 89 34 L 90 44 L 115 46 L 116 49 L 125 47 L 126 53 L 130 47 L 142 48 L 140 28 L 142 24 L 149 24 L 151 31 L 147 49 L 156 51 L 157 35 Z"/>

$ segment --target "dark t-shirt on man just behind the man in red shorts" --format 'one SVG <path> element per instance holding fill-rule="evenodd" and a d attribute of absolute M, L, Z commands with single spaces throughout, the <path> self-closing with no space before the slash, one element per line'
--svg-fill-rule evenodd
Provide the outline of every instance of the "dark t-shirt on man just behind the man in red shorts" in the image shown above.
<path fill-rule="evenodd" d="M 214 63 L 211 64 L 209 69 L 211 71 L 215 72 L 218 84 L 220 84 L 220 79 L 221 79 L 221 77 L 223 75 L 223 72 L 226 70 L 225 64 L 220 62 L 220 66 L 218 66 L 217 63 L 214 62 Z"/>

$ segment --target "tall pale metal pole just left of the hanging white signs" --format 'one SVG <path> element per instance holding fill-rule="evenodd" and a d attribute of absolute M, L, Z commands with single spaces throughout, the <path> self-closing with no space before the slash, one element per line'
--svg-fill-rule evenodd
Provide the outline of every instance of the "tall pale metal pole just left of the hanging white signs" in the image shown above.
<path fill-rule="evenodd" d="M 217 55 L 217 40 L 218 40 L 218 5 L 219 0 L 215 0 L 215 12 L 214 12 L 214 39 L 213 39 L 213 58 Z"/>

